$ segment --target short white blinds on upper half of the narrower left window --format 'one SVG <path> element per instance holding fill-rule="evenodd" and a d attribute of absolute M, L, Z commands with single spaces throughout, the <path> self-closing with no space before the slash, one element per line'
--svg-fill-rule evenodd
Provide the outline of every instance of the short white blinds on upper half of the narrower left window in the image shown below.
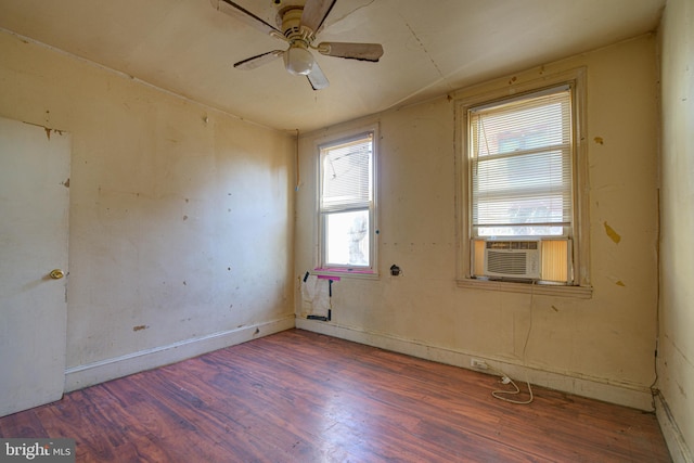
<path fill-rule="evenodd" d="M 321 210 L 369 207 L 373 198 L 373 134 L 321 150 Z"/>

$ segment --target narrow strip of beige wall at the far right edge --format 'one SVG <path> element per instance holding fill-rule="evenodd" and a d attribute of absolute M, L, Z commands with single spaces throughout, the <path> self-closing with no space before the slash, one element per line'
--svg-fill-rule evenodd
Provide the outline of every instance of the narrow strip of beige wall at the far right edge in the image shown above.
<path fill-rule="evenodd" d="M 685 449 L 682 452 L 689 453 L 691 459 L 694 451 L 694 2 L 668 0 L 660 40 L 663 179 L 658 388 L 683 437 L 680 449 Z M 664 415 L 661 421 L 664 419 L 668 416 Z M 677 443 L 674 440 L 669 441 L 671 449 Z"/>

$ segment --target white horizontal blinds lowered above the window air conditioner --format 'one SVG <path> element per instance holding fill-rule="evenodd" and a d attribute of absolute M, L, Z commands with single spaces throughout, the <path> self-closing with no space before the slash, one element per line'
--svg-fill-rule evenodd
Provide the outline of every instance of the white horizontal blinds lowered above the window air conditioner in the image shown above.
<path fill-rule="evenodd" d="M 566 233 L 570 91 L 564 86 L 468 111 L 473 235 Z"/>

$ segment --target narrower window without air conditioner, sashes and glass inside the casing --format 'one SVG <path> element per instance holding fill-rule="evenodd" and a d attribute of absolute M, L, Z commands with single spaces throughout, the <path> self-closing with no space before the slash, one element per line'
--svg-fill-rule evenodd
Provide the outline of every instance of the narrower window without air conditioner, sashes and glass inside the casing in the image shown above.
<path fill-rule="evenodd" d="M 375 131 L 319 146 L 320 269 L 375 272 Z"/>

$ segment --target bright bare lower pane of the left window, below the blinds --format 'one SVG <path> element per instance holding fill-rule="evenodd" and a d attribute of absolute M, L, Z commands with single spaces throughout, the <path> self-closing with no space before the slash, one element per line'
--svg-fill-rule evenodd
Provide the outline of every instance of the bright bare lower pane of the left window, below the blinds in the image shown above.
<path fill-rule="evenodd" d="M 369 266 L 369 210 L 325 216 L 325 265 Z"/>

